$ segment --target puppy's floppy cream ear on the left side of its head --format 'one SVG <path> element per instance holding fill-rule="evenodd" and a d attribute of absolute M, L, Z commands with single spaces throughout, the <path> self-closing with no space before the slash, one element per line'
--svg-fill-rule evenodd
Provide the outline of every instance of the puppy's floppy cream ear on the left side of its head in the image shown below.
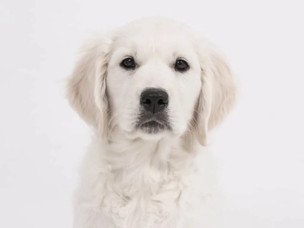
<path fill-rule="evenodd" d="M 110 43 L 109 39 L 95 39 L 85 44 L 67 81 L 67 99 L 71 107 L 102 134 L 107 128 L 105 80 Z"/>

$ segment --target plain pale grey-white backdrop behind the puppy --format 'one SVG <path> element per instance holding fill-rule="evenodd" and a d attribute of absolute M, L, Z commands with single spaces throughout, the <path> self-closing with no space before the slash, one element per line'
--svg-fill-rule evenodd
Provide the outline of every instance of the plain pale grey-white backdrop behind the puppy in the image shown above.
<path fill-rule="evenodd" d="M 91 33 L 162 15 L 205 33 L 240 76 L 212 139 L 234 228 L 304 227 L 304 16 L 299 1 L 0 1 L 0 227 L 71 227 L 90 130 L 64 80 Z"/>

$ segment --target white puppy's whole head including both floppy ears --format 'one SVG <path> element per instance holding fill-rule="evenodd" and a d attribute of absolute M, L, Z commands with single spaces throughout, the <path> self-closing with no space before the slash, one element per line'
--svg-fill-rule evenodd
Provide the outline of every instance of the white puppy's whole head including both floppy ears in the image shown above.
<path fill-rule="evenodd" d="M 160 139 L 208 130 L 233 106 L 236 86 L 225 60 L 185 24 L 133 21 L 91 41 L 68 82 L 72 107 L 106 136 Z"/>

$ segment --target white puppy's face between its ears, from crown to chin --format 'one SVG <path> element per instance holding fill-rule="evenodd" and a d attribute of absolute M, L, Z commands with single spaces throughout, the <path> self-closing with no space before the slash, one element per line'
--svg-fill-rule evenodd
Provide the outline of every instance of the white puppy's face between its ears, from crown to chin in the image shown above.
<path fill-rule="evenodd" d="M 201 91 L 201 67 L 183 27 L 149 21 L 121 31 L 106 76 L 113 122 L 131 137 L 181 135 Z"/>

